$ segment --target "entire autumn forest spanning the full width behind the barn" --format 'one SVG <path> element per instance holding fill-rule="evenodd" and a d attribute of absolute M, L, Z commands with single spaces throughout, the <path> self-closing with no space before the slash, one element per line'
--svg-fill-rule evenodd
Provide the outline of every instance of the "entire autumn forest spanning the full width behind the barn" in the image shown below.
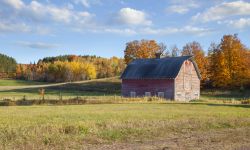
<path fill-rule="evenodd" d="M 0 55 L 1 78 L 44 82 L 80 81 L 120 76 L 134 59 L 192 55 L 202 76 L 202 88 L 249 88 L 250 50 L 237 34 L 224 35 L 219 43 L 211 43 L 205 51 L 200 43 L 187 43 L 182 49 L 167 47 L 155 40 L 128 42 L 124 58 L 62 55 L 46 57 L 37 63 L 17 64 L 15 59 Z"/>

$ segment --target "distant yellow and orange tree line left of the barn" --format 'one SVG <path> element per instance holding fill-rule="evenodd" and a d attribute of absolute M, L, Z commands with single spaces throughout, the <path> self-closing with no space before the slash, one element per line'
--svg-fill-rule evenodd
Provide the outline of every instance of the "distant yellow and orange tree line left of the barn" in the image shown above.
<path fill-rule="evenodd" d="M 112 57 L 63 55 L 46 57 L 37 64 L 19 64 L 16 78 L 46 82 L 80 81 L 119 76 L 123 59 Z"/>

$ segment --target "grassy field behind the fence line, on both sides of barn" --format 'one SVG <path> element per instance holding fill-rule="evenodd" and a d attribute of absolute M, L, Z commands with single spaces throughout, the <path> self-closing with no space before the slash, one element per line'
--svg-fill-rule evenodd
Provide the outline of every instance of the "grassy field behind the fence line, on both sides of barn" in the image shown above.
<path fill-rule="evenodd" d="M 9 86 L 4 84 L 9 82 Z M 19 84 L 21 81 L 5 81 L 0 80 L 0 100 L 1 99 L 41 99 L 39 89 L 42 87 L 29 86 L 29 84 L 36 84 L 36 82 L 22 81 L 23 86 Z M 12 83 L 12 86 L 10 86 Z M 1 86 L 5 85 L 5 86 Z M 26 85 L 26 86 L 25 86 Z M 59 99 L 62 95 L 64 99 L 79 97 L 103 97 L 103 96 L 119 96 L 121 94 L 121 81 L 118 78 L 101 79 L 94 81 L 83 81 L 77 83 L 55 84 L 46 87 L 46 84 L 39 86 L 45 89 L 45 99 Z M 48 84 L 51 85 L 51 84 Z M 241 100 L 250 99 L 250 90 L 239 92 L 234 91 L 220 91 L 220 90 L 205 90 L 201 91 L 201 101 L 211 100 Z"/>

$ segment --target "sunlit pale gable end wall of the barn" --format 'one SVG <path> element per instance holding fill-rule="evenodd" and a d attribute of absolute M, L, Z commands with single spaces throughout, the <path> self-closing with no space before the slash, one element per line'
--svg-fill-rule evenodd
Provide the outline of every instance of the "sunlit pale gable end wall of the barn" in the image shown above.
<path fill-rule="evenodd" d="M 175 79 L 175 100 L 190 101 L 200 98 L 200 79 L 193 63 L 186 60 Z"/>

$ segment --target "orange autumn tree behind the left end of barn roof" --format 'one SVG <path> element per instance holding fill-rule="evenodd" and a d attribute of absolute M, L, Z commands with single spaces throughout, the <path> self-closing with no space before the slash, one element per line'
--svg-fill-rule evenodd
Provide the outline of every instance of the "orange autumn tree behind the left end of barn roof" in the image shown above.
<path fill-rule="evenodd" d="M 124 59 L 126 64 L 137 58 L 155 58 L 156 54 L 164 50 L 162 44 L 157 44 L 155 40 L 132 41 L 126 44 Z"/>

